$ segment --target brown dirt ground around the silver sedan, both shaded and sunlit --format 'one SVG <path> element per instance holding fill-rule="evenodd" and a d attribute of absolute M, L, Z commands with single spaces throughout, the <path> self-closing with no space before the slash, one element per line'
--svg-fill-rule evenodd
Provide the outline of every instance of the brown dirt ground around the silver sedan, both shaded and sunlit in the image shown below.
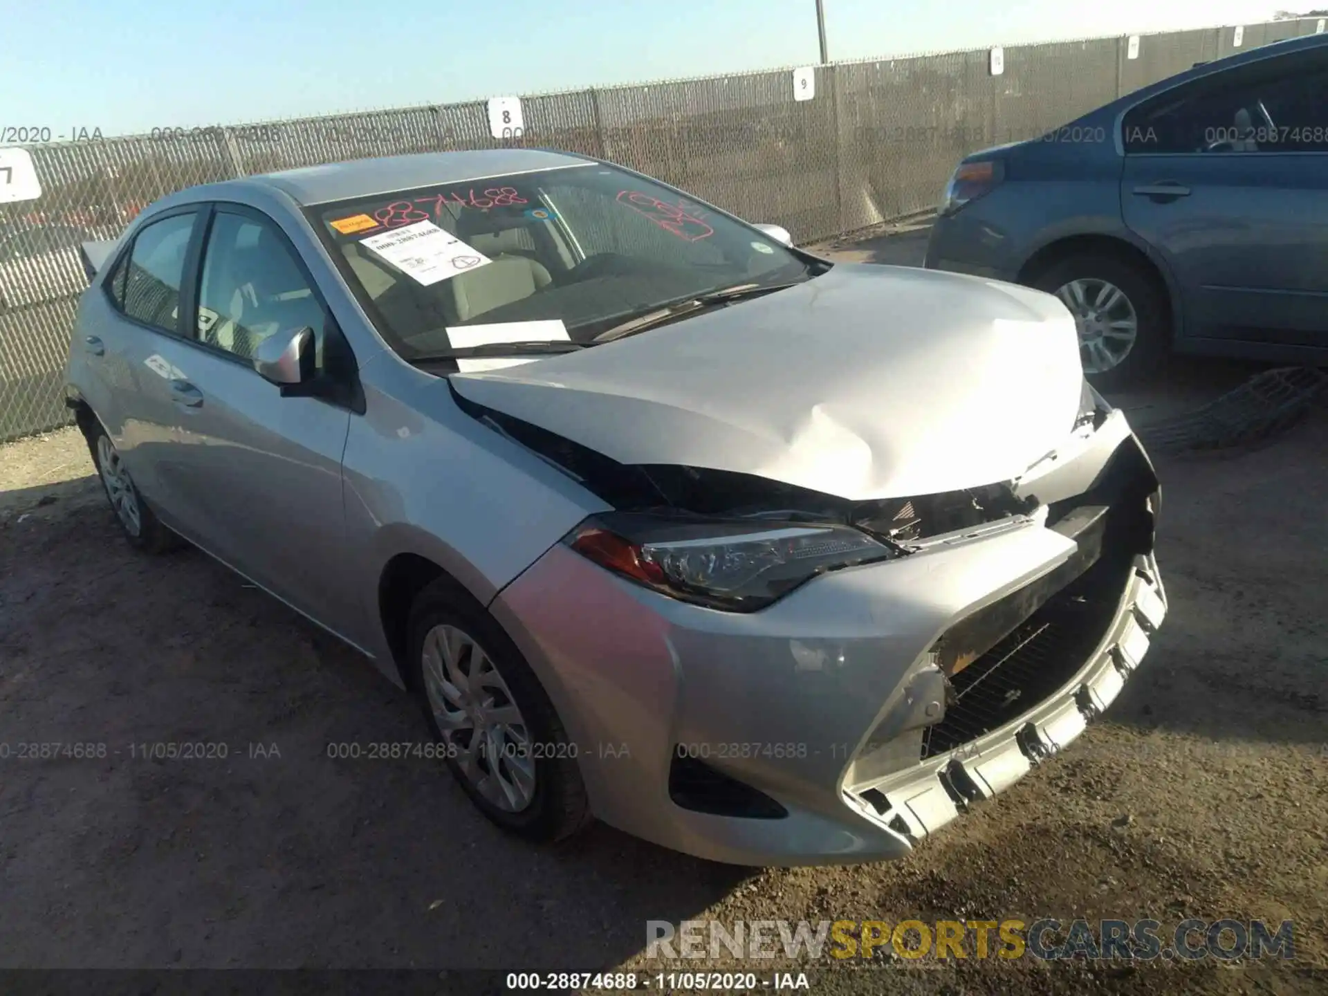
<path fill-rule="evenodd" d="M 604 826 L 531 847 L 433 762 L 329 758 L 422 738 L 416 706 L 202 554 L 134 552 L 73 430 L 0 446 L 0 968 L 653 973 L 651 919 L 1231 916 L 1293 920 L 1295 963 L 827 959 L 813 991 L 1325 992 L 1328 410 L 1158 465 L 1171 610 L 1106 716 L 908 861 L 761 871 Z M 50 741 L 105 756 L 13 753 Z"/>

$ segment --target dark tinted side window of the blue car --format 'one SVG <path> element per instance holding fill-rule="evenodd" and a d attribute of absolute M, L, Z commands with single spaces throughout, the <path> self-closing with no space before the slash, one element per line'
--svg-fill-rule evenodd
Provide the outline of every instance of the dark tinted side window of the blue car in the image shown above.
<path fill-rule="evenodd" d="M 1227 69 L 1125 116 L 1126 153 L 1328 151 L 1328 53 Z"/>

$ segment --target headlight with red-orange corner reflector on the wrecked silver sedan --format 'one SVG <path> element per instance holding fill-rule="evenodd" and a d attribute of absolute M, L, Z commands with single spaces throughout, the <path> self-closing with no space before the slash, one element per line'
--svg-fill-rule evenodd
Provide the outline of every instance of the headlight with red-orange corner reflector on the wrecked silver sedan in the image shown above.
<path fill-rule="evenodd" d="M 769 606 L 823 571 L 895 555 L 849 526 L 643 513 L 595 515 L 563 542 L 637 584 L 730 612 Z"/>

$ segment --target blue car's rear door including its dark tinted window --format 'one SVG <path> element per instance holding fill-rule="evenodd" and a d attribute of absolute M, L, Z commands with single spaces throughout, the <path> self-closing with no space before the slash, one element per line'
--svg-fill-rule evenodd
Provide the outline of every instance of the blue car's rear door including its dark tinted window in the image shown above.
<path fill-rule="evenodd" d="M 1123 120 L 1126 224 L 1186 336 L 1328 347 L 1328 46 L 1185 84 Z"/>

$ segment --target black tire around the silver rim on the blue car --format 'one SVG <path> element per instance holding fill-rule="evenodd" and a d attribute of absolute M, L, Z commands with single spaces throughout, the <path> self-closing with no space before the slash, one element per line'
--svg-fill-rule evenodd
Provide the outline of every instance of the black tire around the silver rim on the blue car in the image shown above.
<path fill-rule="evenodd" d="M 1085 282 L 1078 287 L 1086 288 L 1089 297 L 1101 293 L 1101 288 L 1109 284 L 1121 291 L 1123 301 L 1113 305 L 1110 315 L 1104 316 L 1104 323 L 1086 325 L 1092 319 L 1076 307 L 1072 290 L 1076 282 Z M 1084 372 L 1094 386 L 1133 386 L 1146 382 L 1161 371 L 1171 344 L 1170 308 L 1163 288 L 1139 264 L 1106 252 L 1082 252 L 1057 260 L 1033 278 L 1031 286 L 1054 293 L 1074 313 L 1080 327 Z M 1092 305 L 1092 300 L 1089 304 Z M 1090 307 L 1089 312 L 1092 311 Z M 1121 340 L 1110 339 L 1113 329 L 1108 325 L 1112 320 L 1125 321 L 1129 315 L 1135 321 L 1134 340 L 1123 356 L 1108 368 L 1101 361 L 1102 353 L 1094 353 L 1097 347 L 1092 345 L 1092 340 L 1097 340 L 1108 351 L 1118 349 Z M 1122 329 L 1114 331 L 1120 333 Z"/>

